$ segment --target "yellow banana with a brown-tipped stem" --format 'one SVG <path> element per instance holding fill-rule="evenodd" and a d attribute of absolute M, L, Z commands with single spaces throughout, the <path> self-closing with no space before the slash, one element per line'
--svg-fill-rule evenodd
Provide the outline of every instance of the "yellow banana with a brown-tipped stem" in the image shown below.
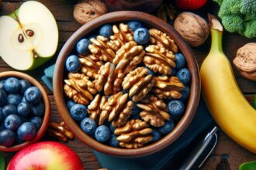
<path fill-rule="evenodd" d="M 256 110 L 241 93 L 223 53 L 223 26 L 213 15 L 209 15 L 209 22 L 212 46 L 200 69 L 202 95 L 220 128 L 237 144 L 256 153 Z"/>

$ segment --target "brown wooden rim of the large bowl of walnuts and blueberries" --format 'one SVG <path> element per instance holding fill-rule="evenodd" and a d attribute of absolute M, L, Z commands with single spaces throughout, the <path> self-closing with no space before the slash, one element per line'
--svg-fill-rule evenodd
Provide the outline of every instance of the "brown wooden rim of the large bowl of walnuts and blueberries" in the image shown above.
<path fill-rule="evenodd" d="M 185 114 L 182 119 L 176 124 L 175 129 L 171 131 L 170 134 L 167 134 L 164 138 L 161 138 L 160 141 L 157 141 L 151 145 L 147 145 L 143 148 L 137 149 L 126 149 L 126 148 L 113 148 L 108 145 L 104 145 L 95 139 L 89 137 L 81 130 L 78 124 L 71 118 L 64 100 L 64 73 L 65 70 L 65 61 L 67 56 L 71 54 L 71 51 L 74 49 L 76 42 L 84 36 L 89 36 L 91 32 L 95 29 L 99 29 L 100 26 L 106 23 L 113 22 L 126 22 L 128 20 L 138 20 L 143 22 L 145 26 L 149 28 L 160 29 L 162 32 L 165 32 L 177 43 L 180 51 L 184 54 L 185 59 L 187 60 L 189 70 L 192 74 L 191 80 L 191 92 L 189 97 L 189 102 L 185 110 Z M 61 49 L 54 70 L 54 98 L 56 101 L 57 109 L 61 114 L 62 119 L 67 124 L 68 128 L 74 132 L 76 138 L 84 142 L 89 147 L 105 153 L 107 155 L 119 156 L 119 157 L 140 157 L 143 155 L 150 155 L 156 151 L 171 145 L 182 133 L 185 131 L 185 128 L 188 127 L 189 123 L 192 121 L 192 118 L 195 114 L 195 110 L 199 103 L 200 97 L 200 78 L 199 78 L 199 68 L 196 63 L 195 57 L 192 53 L 192 49 L 182 40 L 181 36 L 178 35 L 178 32 L 173 29 L 172 26 L 168 23 L 163 22 L 161 19 L 157 19 L 153 15 L 146 14 L 144 12 L 132 12 L 132 11 L 122 11 L 122 12 L 112 12 L 106 15 L 102 15 L 97 19 L 88 22 L 84 26 L 81 26 L 78 31 L 74 32 L 70 39 L 67 40 L 64 47 Z"/>

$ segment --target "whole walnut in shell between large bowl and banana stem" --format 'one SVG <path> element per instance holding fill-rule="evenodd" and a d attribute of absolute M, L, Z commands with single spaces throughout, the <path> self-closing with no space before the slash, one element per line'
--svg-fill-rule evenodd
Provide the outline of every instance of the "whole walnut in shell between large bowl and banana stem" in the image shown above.
<path fill-rule="evenodd" d="M 190 46 L 200 46 L 209 36 L 205 19 L 192 12 L 182 12 L 175 19 L 175 29 Z"/>

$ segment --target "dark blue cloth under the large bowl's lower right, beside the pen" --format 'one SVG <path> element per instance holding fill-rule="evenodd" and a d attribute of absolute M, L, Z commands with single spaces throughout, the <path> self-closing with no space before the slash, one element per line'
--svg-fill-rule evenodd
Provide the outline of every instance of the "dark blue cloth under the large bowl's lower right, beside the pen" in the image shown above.
<path fill-rule="evenodd" d="M 111 170 L 157 170 L 161 169 L 178 151 L 189 145 L 191 141 L 211 126 L 213 126 L 213 118 L 210 116 L 204 101 L 201 99 L 192 123 L 185 132 L 167 148 L 153 155 L 141 158 L 116 158 L 104 155 L 98 151 L 94 151 L 94 153 L 103 168 L 109 168 Z"/>

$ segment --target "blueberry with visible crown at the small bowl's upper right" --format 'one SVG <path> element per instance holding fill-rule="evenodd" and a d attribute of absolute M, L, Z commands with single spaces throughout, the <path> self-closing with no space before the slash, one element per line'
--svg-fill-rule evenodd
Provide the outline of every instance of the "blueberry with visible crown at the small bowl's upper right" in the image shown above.
<path fill-rule="evenodd" d="M 29 104 L 36 104 L 41 99 L 42 93 L 38 87 L 29 87 L 25 91 L 24 97 Z"/>

